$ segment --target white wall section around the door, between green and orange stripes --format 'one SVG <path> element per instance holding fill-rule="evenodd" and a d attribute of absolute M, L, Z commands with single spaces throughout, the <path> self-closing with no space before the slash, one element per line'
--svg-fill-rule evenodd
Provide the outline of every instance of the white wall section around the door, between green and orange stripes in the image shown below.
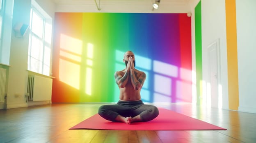
<path fill-rule="evenodd" d="M 203 101 L 209 92 L 206 85 L 209 80 L 209 57 L 207 47 L 219 40 L 219 86 L 222 87 L 222 108 L 229 108 L 228 79 L 227 79 L 227 51 L 226 51 L 226 17 L 225 0 L 201 0 L 202 13 L 202 66 L 203 66 Z M 221 90 L 221 88 L 219 88 Z"/>

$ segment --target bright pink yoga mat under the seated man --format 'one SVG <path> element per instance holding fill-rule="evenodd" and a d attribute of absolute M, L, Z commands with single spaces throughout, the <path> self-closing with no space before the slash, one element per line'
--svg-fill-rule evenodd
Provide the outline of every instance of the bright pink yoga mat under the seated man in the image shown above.
<path fill-rule="evenodd" d="M 107 121 L 98 114 L 87 118 L 70 129 L 96 130 L 226 130 L 222 127 L 173 112 L 159 109 L 159 115 L 152 121 L 134 122 L 130 125 L 120 122 Z"/>

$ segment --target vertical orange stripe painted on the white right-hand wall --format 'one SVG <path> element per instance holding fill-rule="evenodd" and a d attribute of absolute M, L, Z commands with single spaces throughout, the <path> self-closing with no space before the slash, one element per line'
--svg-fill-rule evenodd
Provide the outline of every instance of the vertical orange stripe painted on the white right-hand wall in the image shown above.
<path fill-rule="evenodd" d="M 238 58 L 235 0 L 226 0 L 226 42 L 228 60 L 229 109 L 238 110 Z"/>

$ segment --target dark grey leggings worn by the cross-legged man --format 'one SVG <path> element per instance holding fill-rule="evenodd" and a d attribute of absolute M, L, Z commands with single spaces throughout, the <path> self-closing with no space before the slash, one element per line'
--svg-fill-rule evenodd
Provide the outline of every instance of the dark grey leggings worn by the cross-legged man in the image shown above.
<path fill-rule="evenodd" d="M 140 115 L 143 122 L 153 120 L 158 116 L 158 108 L 153 105 L 145 105 L 140 101 L 118 101 L 114 105 L 102 105 L 98 114 L 109 121 L 115 121 L 118 115 L 123 117 L 134 117 Z"/>

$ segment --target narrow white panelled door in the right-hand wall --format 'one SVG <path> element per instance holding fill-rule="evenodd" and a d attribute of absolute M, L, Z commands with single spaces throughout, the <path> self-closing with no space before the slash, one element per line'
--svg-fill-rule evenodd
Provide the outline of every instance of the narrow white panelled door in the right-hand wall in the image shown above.
<path fill-rule="evenodd" d="M 210 103 L 212 107 L 218 107 L 218 43 L 214 42 L 208 47 L 209 55 L 209 80 L 210 80 Z"/>

